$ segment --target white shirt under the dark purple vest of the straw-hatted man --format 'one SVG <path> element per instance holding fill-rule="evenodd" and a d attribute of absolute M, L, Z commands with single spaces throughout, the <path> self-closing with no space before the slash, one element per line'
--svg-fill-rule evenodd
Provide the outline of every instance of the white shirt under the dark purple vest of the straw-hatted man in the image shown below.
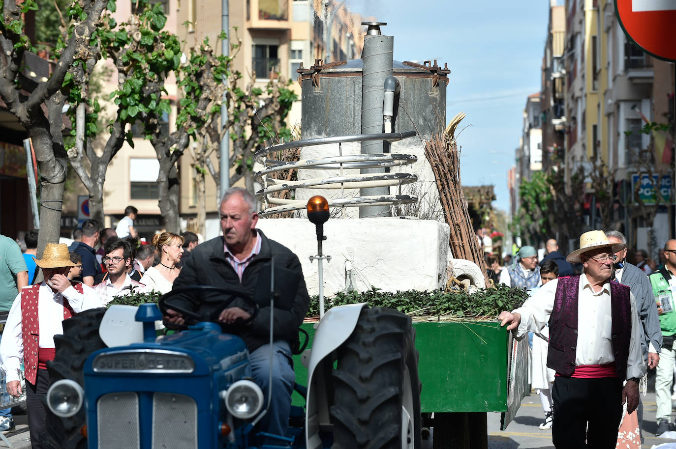
<path fill-rule="evenodd" d="M 545 327 L 554 308 L 557 286 L 557 279 L 548 282 L 527 299 L 523 306 L 514 310 L 514 313 L 521 314 L 521 323 L 514 329 L 516 338 L 522 338 L 526 332 L 540 332 Z M 647 369 L 641 354 L 641 334 L 636 302 L 631 293 L 629 302 L 631 302 L 631 339 L 627 359 L 627 379 L 643 377 Z M 614 362 L 610 283 L 606 282 L 599 292 L 594 292 L 587 277 L 584 274 L 580 275 L 577 307 L 575 366 L 605 365 Z"/>

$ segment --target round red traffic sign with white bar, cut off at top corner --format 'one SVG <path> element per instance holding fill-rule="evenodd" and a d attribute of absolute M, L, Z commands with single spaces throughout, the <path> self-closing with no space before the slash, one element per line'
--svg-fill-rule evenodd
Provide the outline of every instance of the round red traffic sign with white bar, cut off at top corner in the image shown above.
<path fill-rule="evenodd" d="M 676 61 L 676 1 L 614 0 L 620 26 L 633 43 L 665 61 Z"/>

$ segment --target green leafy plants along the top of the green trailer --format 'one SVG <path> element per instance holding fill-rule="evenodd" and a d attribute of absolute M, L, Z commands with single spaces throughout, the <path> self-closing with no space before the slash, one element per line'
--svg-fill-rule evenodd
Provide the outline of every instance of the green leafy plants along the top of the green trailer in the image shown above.
<path fill-rule="evenodd" d="M 108 305 L 138 306 L 145 302 L 158 302 L 160 296 L 162 294 L 155 291 L 116 296 Z M 328 310 L 335 306 L 366 302 L 371 307 L 389 307 L 416 319 L 448 321 L 452 319 L 494 319 L 501 311 L 511 311 L 521 306 L 527 298 L 526 290 L 509 288 L 504 285 L 483 288 L 473 294 L 468 294 L 464 290 L 452 292 L 408 290 L 392 293 L 372 287 L 366 292 L 337 293 L 331 298 L 326 298 L 324 305 Z M 306 316 L 317 317 L 318 315 L 318 298 L 312 296 Z"/>

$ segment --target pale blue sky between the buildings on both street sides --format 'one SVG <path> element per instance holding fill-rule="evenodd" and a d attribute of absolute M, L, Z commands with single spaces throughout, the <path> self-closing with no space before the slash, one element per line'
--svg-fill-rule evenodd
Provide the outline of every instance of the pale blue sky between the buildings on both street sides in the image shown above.
<path fill-rule="evenodd" d="M 540 90 L 549 0 L 346 0 L 387 22 L 394 59 L 448 62 L 447 122 L 464 111 L 458 137 L 466 186 L 493 184 L 493 207 L 509 210 L 507 170 L 523 128 L 526 98 Z"/>

